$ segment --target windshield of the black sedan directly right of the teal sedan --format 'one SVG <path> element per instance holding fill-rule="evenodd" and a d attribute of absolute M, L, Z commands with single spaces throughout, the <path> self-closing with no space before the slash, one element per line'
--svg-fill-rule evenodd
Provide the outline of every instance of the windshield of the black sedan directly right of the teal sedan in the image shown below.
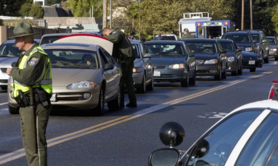
<path fill-rule="evenodd" d="M 215 55 L 218 49 L 215 42 L 186 41 L 191 52 Z"/>

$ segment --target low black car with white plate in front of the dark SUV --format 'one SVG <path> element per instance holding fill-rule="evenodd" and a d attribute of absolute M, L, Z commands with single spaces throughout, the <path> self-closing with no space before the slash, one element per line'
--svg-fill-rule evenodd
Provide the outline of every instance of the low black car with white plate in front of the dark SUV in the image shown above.
<path fill-rule="evenodd" d="M 242 68 L 255 72 L 256 68 L 263 67 L 263 58 L 252 52 L 242 51 Z"/>

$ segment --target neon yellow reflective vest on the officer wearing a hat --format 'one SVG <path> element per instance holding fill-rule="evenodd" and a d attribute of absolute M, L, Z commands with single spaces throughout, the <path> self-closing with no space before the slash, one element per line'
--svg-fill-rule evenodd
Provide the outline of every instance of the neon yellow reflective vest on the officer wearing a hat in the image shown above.
<path fill-rule="evenodd" d="M 26 56 L 26 55 L 23 56 L 23 58 L 21 59 L 21 61 L 19 63 L 18 68 L 19 69 L 26 68 L 26 65 L 27 65 L 28 61 L 30 60 L 30 58 L 32 57 L 32 54 L 34 54 L 36 52 L 40 52 L 41 54 L 44 54 L 47 56 L 46 52 L 44 52 L 44 50 L 40 46 L 37 46 L 32 50 L 32 52 L 29 54 L 29 56 Z M 50 65 L 49 58 L 48 58 L 48 68 L 47 68 L 46 72 L 44 73 L 44 78 L 40 82 L 34 84 L 33 88 L 40 87 L 40 85 L 48 94 L 52 93 L 52 75 L 51 75 L 51 65 Z M 27 86 L 14 79 L 13 79 L 13 83 L 11 86 L 13 86 L 13 98 L 18 96 L 19 90 L 22 90 L 22 92 L 28 92 L 30 90 L 30 86 Z"/>

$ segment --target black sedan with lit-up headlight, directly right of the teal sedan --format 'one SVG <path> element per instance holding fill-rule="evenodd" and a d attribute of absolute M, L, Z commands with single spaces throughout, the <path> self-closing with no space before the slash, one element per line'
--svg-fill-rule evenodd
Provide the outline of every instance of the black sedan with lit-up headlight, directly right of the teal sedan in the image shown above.
<path fill-rule="evenodd" d="M 227 51 L 216 39 L 183 39 L 194 52 L 197 63 L 197 76 L 214 76 L 215 80 L 226 79 Z"/>

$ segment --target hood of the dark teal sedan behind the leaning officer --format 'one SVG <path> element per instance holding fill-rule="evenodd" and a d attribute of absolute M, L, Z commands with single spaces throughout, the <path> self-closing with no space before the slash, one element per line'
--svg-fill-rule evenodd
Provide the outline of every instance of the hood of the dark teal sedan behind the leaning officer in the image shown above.
<path fill-rule="evenodd" d="M 152 63 L 154 65 L 171 65 L 185 63 L 184 56 L 167 56 L 167 55 L 152 55 Z"/>

